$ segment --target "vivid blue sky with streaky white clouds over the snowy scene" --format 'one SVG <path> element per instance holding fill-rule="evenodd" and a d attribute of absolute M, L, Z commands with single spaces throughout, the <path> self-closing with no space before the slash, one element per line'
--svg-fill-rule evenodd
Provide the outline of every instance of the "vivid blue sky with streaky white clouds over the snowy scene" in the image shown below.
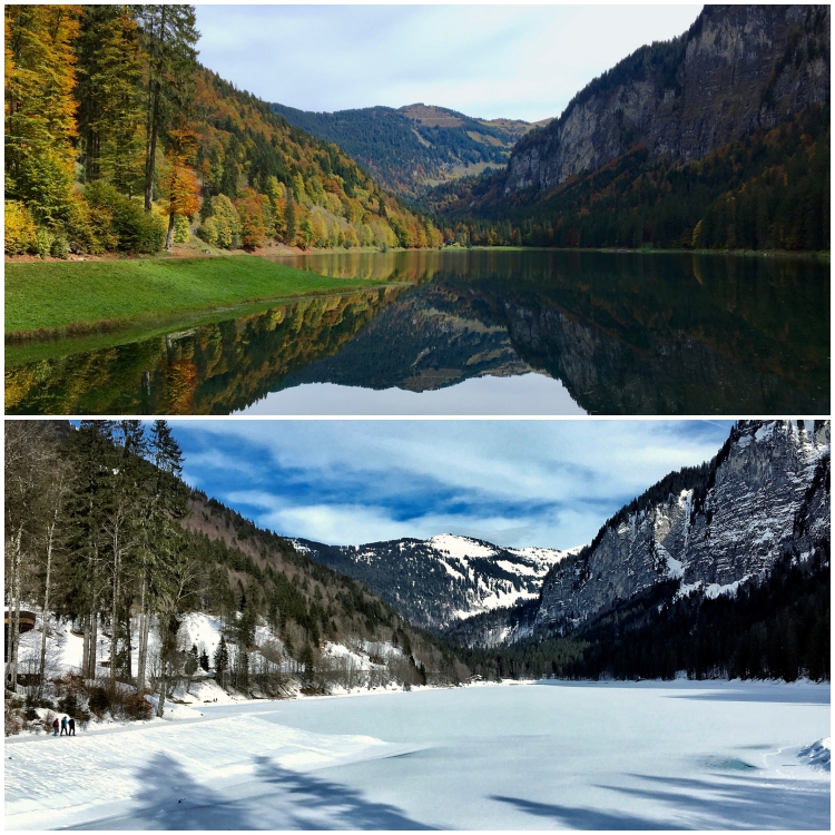
<path fill-rule="evenodd" d="M 459 533 L 588 542 L 728 421 L 171 421 L 185 478 L 265 528 L 331 544 Z"/>

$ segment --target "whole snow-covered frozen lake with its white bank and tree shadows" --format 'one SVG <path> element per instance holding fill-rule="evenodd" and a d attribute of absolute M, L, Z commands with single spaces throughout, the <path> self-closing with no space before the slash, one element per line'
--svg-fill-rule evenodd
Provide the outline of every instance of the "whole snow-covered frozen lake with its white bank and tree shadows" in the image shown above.
<path fill-rule="evenodd" d="M 829 736 L 828 685 L 538 682 L 202 713 L 7 739 L 6 828 L 829 829 L 828 752 L 803 753 Z"/>

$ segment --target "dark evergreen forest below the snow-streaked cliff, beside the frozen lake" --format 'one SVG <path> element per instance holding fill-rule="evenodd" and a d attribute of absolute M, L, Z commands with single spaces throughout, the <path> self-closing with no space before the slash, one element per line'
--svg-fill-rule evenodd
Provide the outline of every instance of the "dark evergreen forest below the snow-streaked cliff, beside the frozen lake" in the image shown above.
<path fill-rule="evenodd" d="M 829 550 L 786 554 L 736 597 L 661 584 L 566 637 L 536 636 L 495 649 L 459 649 L 485 677 L 639 679 L 831 676 Z"/>

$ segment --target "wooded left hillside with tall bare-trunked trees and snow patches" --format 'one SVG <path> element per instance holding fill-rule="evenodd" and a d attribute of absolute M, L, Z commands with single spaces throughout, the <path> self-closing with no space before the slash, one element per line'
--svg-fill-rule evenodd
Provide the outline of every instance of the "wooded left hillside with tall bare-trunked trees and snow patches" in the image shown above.
<path fill-rule="evenodd" d="M 190 491 L 165 421 L 8 421 L 4 449 L 12 692 L 18 680 L 39 697 L 51 687 L 59 638 L 42 626 L 62 621 L 84 650 L 72 669 L 52 665 L 59 690 L 80 688 L 86 700 L 104 688 L 110 700 L 141 703 L 147 689 L 164 696 L 161 715 L 196 670 L 184 637 L 195 613 L 225 641 L 215 680 L 239 694 L 469 675 L 361 583 Z M 22 656 L 21 610 L 36 612 L 43 636 L 40 651 L 29 642 Z"/>

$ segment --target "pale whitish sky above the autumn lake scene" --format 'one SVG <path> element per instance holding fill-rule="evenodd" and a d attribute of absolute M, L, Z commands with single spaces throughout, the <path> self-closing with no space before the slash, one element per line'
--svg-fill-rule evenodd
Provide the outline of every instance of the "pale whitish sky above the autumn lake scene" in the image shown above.
<path fill-rule="evenodd" d="M 700 6 L 197 7 L 200 61 L 303 110 L 416 101 L 482 118 L 559 116 L 592 78 L 669 40 Z"/>

